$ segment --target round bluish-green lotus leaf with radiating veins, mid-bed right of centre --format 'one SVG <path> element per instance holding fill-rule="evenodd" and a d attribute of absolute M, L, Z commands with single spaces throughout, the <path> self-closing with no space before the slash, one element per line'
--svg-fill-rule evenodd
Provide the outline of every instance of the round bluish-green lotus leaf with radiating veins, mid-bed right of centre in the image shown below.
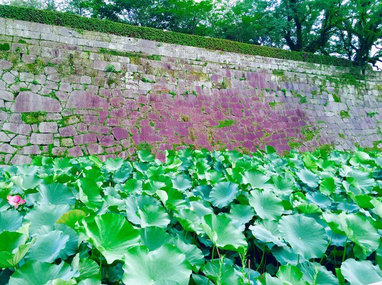
<path fill-rule="evenodd" d="M 209 201 L 215 207 L 223 208 L 228 206 L 239 193 L 236 183 L 219 182 L 213 185 L 209 193 Z"/>

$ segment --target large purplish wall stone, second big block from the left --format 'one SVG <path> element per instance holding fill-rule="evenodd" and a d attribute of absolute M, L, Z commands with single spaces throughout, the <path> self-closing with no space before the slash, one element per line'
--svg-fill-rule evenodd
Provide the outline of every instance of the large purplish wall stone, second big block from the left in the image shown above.
<path fill-rule="evenodd" d="M 108 103 L 106 98 L 91 94 L 88 91 L 76 90 L 70 94 L 66 108 L 108 109 Z"/>

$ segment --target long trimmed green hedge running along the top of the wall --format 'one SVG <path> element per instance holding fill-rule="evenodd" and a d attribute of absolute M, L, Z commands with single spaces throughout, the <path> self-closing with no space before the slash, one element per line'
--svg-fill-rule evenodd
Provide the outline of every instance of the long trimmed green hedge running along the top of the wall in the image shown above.
<path fill-rule="evenodd" d="M 334 56 L 317 55 L 309 52 L 294 52 L 285 49 L 244 44 L 223 39 L 206 38 L 175 32 L 166 32 L 148 27 L 132 26 L 123 23 L 81 17 L 73 14 L 36 10 L 0 5 L 0 17 L 23 21 L 67 26 L 74 29 L 110 33 L 118 36 L 139 38 L 170 44 L 195 46 L 213 50 L 223 50 L 243 54 L 268 56 L 269 58 L 302 61 L 335 66 L 352 66 L 351 61 Z"/>

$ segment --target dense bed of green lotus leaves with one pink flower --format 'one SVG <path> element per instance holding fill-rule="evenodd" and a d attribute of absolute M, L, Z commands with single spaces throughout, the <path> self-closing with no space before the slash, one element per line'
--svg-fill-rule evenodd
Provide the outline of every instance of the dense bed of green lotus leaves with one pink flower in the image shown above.
<path fill-rule="evenodd" d="M 0 284 L 382 280 L 380 152 L 40 157 L 0 177 Z"/>

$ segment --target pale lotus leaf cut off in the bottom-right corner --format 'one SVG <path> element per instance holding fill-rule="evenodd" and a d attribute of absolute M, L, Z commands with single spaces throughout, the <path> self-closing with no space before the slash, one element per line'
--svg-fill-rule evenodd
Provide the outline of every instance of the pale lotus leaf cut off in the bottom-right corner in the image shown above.
<path fill-rule="evenodd" d="M 347 259 L 341 265 L 341 273 L 351 285 L 372 284 L 382 280 L 382 271 L 368 260 Z"/>

